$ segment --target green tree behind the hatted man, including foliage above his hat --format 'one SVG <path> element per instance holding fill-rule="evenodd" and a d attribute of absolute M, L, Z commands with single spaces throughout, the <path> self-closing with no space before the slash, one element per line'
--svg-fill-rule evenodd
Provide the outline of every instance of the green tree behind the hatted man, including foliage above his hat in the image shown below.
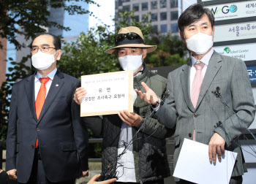
<path fill-rule="evenodd" d="M 64 43 L 64 53 L 58 62 L 58 69 L 78 79 L 84 74 L 118 71 L 120 66 L 116 55 L 104 51 L 115 47 L 118 30 L 127 26 L 138 26 L 146 36 L 151 32 L 151 24 L 148 21 L 137 22 L 134 12 L 120 12 L 115 33 L 110 31 L 110 26 L 103 25 L 91 28 L 87 34 L 81 33 L 75 42 Z"/>

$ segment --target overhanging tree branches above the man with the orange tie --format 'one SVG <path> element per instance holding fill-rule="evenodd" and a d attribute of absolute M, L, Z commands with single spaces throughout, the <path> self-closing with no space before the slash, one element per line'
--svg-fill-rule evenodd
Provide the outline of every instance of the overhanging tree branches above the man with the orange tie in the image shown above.
<path fill-rule="evenodd" d="M 69 27 L 48 20 L 50 9 L 53 11 L 52 9 L 62 8 L 69 15 L 92 15 L 88 9 L 76 4 L 77 1 L 96 4 L 92 0 L 0 0 L 0 37 L 7 38 L 16 49 L 20 49 L 24 45 L 17 41 L 17 34 L 23 35 L 28 40 L 37 33 L 45 32 L 45 27 L 69 31 Z M 73 4 L 67 5 L 67 2 Z"/>

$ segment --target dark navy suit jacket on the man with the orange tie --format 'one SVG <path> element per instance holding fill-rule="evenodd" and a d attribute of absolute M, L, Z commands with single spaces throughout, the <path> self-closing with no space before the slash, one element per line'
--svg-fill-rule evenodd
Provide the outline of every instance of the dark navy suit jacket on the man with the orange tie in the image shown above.
<path fill-rule="evenodd" d="M 80 106 L 72 100 L 79 86 L 79 80 L 57 70 L 37 120 L 34 75 L 13 85 L 6 170 L 17 169 L 18 182 L 29 180 L 37 138 L 45 175 L 51 182 L 75 179 L 81 169 L 88 169 L 87 129 L 81 123 Z"/>

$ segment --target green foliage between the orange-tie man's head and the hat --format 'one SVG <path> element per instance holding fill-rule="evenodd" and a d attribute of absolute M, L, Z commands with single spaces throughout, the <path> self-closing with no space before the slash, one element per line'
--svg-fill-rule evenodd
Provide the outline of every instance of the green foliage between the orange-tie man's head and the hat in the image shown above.
<path fill-rule="evenodd" d="M 116 55 L 104 53 L 113 47 L 113 33 L 107 26 L 91 28 L 81 33 L 75 42 L 66 42 L 58 69 L 80 79 L 81 75 L 113 72 L 118 70 Z"/>

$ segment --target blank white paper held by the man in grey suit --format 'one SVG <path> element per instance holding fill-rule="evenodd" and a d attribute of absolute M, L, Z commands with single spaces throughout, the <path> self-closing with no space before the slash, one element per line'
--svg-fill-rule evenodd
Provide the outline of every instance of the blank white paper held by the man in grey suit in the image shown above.
<path fill-rule="evenodd" d="M 210 163 L 208 145 L 184 139 L 173 176 L 202 184 L 228 184 L 237 153 L 225 150 L 222 161 Z"/>

